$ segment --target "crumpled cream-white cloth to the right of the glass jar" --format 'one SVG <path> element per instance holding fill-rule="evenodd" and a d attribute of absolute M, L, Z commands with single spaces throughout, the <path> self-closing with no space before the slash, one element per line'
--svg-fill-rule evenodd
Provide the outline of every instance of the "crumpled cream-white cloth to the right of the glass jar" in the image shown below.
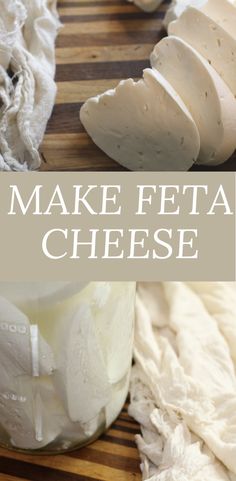
<path fill-rule="evenodd" d="M 144 480 L 236 479 L 236 286 L 139 284 L 129 413 Z"/>

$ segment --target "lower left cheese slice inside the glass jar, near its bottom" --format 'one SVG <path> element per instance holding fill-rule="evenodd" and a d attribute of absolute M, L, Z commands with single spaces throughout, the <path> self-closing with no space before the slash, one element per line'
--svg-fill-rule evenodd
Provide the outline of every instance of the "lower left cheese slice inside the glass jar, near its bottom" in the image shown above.
<path fill-rule="evenodd" d="M 55 411 L 42 399 L 44 384 L 40 378 L 11 375 L 1 362 L 0 424 L 17 448 L 39 449 L 60 434 Z"/>

